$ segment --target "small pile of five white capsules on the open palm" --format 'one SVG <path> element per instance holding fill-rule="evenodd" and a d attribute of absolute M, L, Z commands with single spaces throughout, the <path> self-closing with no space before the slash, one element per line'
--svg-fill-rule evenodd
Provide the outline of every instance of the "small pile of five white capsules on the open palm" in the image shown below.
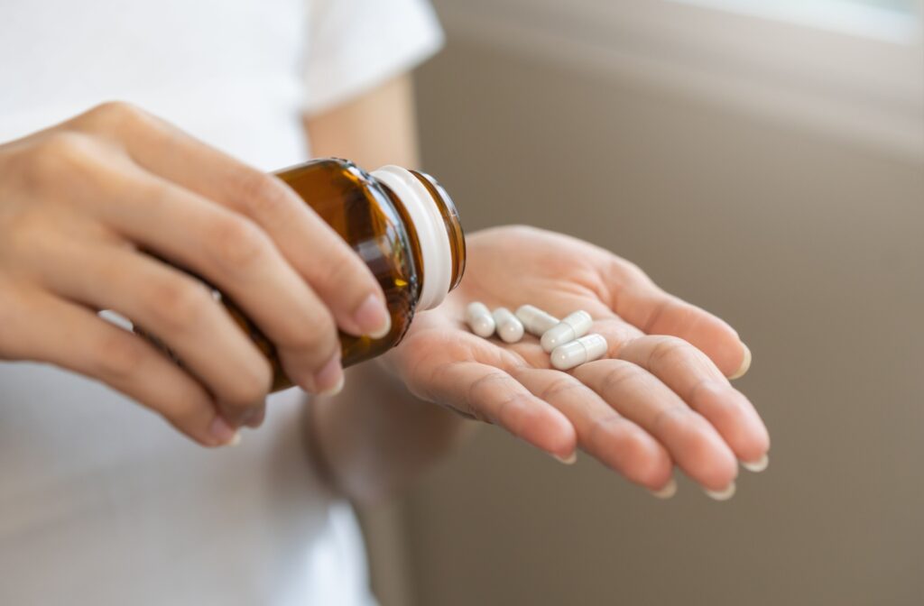
<path fill-rule="evenodd" d="M 484 303 L 473 301 L 466 308 L 465 320 L 472 333 L 484 338 L 497 333 L 505 343 L 517 343 L 523 333 L 538 336 L 542 349 L 552 355 L 552 366 L 558 370 L 600 359 L 607 351 L 602 334 L 588 334 L 593 318 L 584 310 L 559 320 L 532 305 L 521 306 L 513 313 L 506 308 L 492 311 Z"/>

